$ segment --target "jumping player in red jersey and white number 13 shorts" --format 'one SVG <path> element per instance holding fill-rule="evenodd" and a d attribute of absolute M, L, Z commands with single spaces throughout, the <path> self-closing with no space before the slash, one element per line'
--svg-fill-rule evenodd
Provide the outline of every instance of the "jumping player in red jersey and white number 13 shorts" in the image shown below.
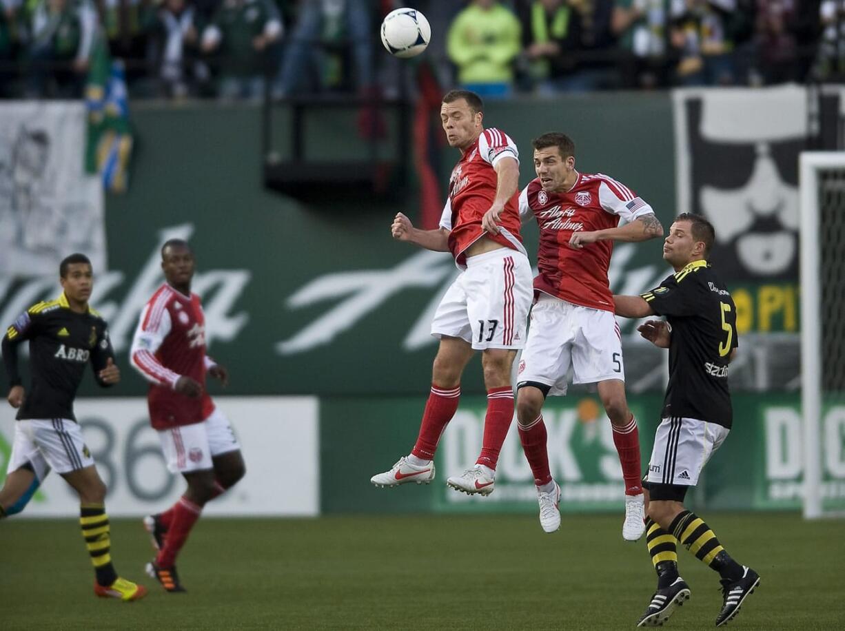
<path fill-rule="evenodd" d="M 468 90 L 443 97 L 440 119 L 461 160 L 452 171 L 439 229 L 417 229 L 401 213 L 391 226 L 399 241 L 451 252 L 463 271 L 432 322 L 440 344 L 417 443 L 390 470 L 372 477 L 377 487 L 433 480 L 434 452 L 458 408 L 461 373 L 473 352 L 482 351 L 488 406 L 481 454 L 472 469 L 446 483 L 471 494 L 493 492 L 499 451 L 514 416 L 510 369 L 525 345 L 532 272 L 520 237 L 519 154 L 506 133 L 483 128 L 482 110 L 481 99 Z"/>

